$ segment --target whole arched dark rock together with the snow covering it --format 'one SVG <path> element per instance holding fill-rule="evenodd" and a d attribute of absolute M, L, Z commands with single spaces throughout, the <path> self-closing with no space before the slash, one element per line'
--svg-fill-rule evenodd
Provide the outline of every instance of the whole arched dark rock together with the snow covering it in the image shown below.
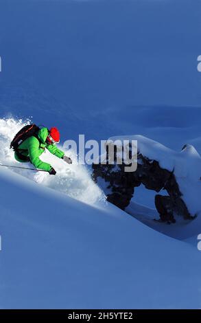
<path fill-rule="evenodd" d="M 129 141 L 130 151 L 132 140 L 137 140 L 137 170 L 125 172 L 124 163 L 110 164 L 108 153 L 102 157 L 106 164 L 93 164 L 93 178 L 104 189 L 108 201 L 125 210 L 134 188 L 142 183 L 149 190 L 167 191 L 166 196 L 155 196 L 162 221 L 174 223 L 177 216 L 193 219 L 201 210 L 201 157 L 196 149 L 187 144 L 180 152 L 172 151 L 141 135 L 111 137 L 106 146 L 115 146 L 115 157 L 121 148 L 116 143 L 123 140 Z"/>

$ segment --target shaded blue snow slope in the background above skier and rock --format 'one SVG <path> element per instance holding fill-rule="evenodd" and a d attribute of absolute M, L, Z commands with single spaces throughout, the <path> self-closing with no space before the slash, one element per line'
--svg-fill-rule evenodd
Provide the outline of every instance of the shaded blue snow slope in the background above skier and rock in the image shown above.
<path fill-rule="evenodd" d="M 54 121 L 64 140 L 140 133 L 201 150 L 200 0 L 1 0 L 0 12 L 2 116 Z"/>

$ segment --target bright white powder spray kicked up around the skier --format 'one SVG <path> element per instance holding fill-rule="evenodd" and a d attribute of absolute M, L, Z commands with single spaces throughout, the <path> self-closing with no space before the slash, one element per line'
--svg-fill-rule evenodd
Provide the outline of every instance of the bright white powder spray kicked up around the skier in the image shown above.
<path fill-rule="evenodd" d="M 31 120 L 15 120 L 14 118 L 0 119 L 0 163 L 12 166 L 27 167 L 27 163 L 20 164 L 14 159 L 14 153 L 10 150 L 10 142 L 14 135 Z M 62 147 L 60 147 L 62 149 Z M 62 149 L 64 150 L 64 149 Z M 91 179 L 89 170 L 82 165 L 78 165 L 77 156 L 73 151 L 66 152 L 73 160 L 72 165 L 67 165 L 62 159 L 58 159 L 51 155 L 49 151 L 45 151 L 40 158 L 43 161 L 49 162 L 56 169 L 56 176 L 45 176 L 43 185 L 49 186 L 54 190 L 64 192 L 88 204 L 94 204 L 98 201 L 104 201 L 104 193 L 96 186 Z M 33 179 L 32 170 L 23 170 L 18 168 L 10 168 L 24 177 Z M 45 174 L 46 175 L 46 174 Z"/>

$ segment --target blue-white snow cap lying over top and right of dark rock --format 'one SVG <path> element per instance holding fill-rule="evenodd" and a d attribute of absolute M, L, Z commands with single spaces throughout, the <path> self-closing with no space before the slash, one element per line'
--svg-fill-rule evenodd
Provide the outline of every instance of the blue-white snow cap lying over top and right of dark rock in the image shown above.
<path fill-rule="evenodd" d="M 190 144 L 185 145 L 182 151 L 176 152 L 163 144 L 150 140 L 142 135 L 115 136 L 112 140 L 137 140 L 138 151 L 149 159 L 155 159 L 161 168 L 174 171 L 179 185 L 182 199 L 185 201 L 189 212 L 193 215 L 201 213 L 201 157 L 198 151 Z"/>

